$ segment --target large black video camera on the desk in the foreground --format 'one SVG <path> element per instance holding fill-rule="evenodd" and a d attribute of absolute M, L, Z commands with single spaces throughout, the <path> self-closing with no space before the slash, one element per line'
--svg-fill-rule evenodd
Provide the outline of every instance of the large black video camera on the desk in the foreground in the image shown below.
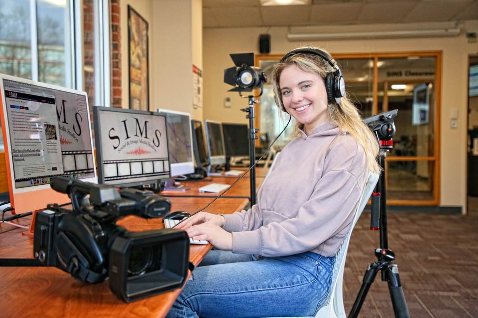
<path fill-rule="evenodd" d="M 107 277 L 125 302 L 179 288 L 189 266 L 186 232 L 162 229 L 131 232 L 116 225 L 127 215 L 159 218 L 169 213 L 167 198 L 151 191 L 54 178 L 51 187 L 67 193 L 72 209 L 57 204 L 36 214 L 33 255 L 86 283 Z"/>

